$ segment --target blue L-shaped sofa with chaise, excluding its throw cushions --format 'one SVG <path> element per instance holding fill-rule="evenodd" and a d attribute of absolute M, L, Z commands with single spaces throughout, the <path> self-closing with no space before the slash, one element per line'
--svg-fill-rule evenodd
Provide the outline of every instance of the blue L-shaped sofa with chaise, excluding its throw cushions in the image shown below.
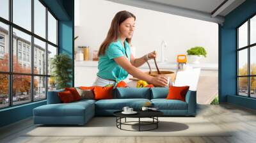
<path fill-rule="evenodd" d="M 49 91 L 47 105 L 33 109 L 35 124 L 86 124 L 94 116 L 113 116 L 113 112 L 129 106 L 140 110 L 146 102 L 152 102 L 164 116 L 195 116 L 196 91 L 188 91 L 186 102 L 166 100 L 168 87 L 113 89 L 110 100 L 79 100 L 61 103 L 58 91 Z"/>

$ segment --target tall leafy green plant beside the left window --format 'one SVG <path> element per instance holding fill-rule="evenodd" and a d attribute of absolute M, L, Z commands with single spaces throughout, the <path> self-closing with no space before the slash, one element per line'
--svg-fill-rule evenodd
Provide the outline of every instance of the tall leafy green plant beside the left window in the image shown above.
<path fill-rule="evenodd" d="M 67 54 L 59 54 L 51 59 L 52 80 L 57 89 L 70 87 L 72 80 L 72 59 Z"/>

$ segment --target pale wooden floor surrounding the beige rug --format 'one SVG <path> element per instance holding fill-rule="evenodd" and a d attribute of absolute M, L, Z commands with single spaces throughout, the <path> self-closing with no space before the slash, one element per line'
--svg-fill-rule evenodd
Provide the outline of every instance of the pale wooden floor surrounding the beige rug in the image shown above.
<path fill-rule="evenodd" d="M 24 132 L 35 128 L 32 119 L 25 119 L 0 129 L 0 142 L 68 142 L 68 143 L 160 143 L 160 142 L 256 142 L 256 112 L 234 105 L 198 105 L 198 115 L 220 128 L 235 130 L 228 137 L 23 137 Z M 202 128 L 204 130 L 204 128 Z M 111 132 L 111 131 L 110 131 Z"/>

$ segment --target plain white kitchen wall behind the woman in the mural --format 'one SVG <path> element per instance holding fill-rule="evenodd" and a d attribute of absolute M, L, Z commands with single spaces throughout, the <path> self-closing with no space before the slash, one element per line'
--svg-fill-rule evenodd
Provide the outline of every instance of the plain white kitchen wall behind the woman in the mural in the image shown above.
<path fill-rule="evenodd" d="M 92 50 L 99 49 L 111 20 L 121 10 L 136 15 L 132 38 L 136 57 L 157 50 L 160 60 L 161 41 L 164 40 L 167 43 L 164 55 L 170 62 L 176 61 L 177 54 L 186 54 L 190 47 L 202 46 L 207 51 L 202 63 L 218 63 L 218 24 L 103 0 L 80 0 L 79 26 L 75 27 L 75 36 L 79 38 L 75 47 L 89 45 L 92 59 Z"/>

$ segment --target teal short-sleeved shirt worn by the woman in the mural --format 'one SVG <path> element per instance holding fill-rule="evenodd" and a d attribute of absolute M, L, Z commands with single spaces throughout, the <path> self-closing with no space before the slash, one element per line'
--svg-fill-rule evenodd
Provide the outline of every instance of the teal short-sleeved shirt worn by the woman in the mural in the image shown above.
<path fill-rule="evenodd" d="M 124 46 L 125 47 L 123 47 L 122 41 L 120 40 L 113 41 L 109 44 L 105 55 L 99 57 L 99 72 L 97 73 L 99 77 L 102 79 L 112 79 L 116 82 L 124 80 L 128 77 L 129 73 L 114 61 L 114 58 L 116 57 L 126 57 L 125 50 L 127 53 L 128 61 L 130 61 L 131 51 L 129 43 L 126 40 L 124 41 Z"/>

